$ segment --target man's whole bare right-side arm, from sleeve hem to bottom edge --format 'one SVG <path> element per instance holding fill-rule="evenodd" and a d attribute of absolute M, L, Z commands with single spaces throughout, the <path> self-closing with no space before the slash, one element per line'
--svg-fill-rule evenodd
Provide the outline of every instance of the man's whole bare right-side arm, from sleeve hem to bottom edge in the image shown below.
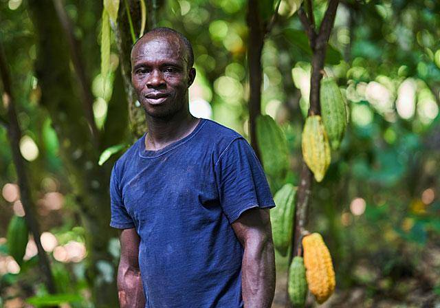
<path fill-rule="evenodd" d="M 245 308 L 270 308 L 275 294 L 275 255 L 269 209 L 246 210 L 232 228 L 244 248 L 241 293 Z"/>

